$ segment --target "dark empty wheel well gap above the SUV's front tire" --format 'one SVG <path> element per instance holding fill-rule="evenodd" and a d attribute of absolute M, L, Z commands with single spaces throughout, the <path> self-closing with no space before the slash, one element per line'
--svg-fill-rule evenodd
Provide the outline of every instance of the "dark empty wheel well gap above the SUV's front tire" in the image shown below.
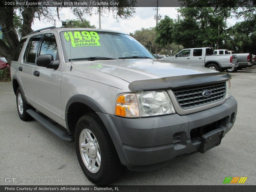
<path fill-rule="evenodd" d="M 92 108 L 80 102 L 72 103 L 69 106 L 68 111 L 66 111 L 66 113 L 68 113 L 67 115 L 68 129 L 69 129 L 69 132 L 72 133 L 73 135 L 75 134 L 76 123 L 81 116 L 87 113 L 94 113 L 95 115 L 97 115 L 95 111 L 92 110 Z"/>

